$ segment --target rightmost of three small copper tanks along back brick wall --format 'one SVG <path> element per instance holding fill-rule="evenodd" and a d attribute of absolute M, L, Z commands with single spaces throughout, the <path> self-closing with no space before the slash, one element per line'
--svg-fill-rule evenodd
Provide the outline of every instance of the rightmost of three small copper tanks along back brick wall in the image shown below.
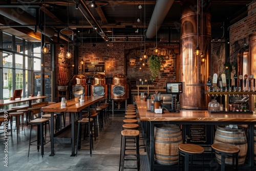
<path fill-rule="evenodd" d="M 129 85 L 127 84 L 127 78 L 123 74 L 117 74 L 113 77 L 111 84 L 111 98 L 114 101 L 124 101 L 129 98 Z"/>

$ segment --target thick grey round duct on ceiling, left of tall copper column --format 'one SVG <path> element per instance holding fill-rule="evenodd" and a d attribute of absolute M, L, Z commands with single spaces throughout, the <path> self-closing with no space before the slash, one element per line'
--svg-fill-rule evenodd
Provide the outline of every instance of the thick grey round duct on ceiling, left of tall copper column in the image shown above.
<path fill-rule="evenodd" d="M 153 38 L 156 36 L 157 31 L 159 30 L 161 24 L 167 13 L 172 7 L 174 0 L 158 0 L 156 2 L 155 9 L 150 19 L 146 30 L 146 38 Z M 157 27 L 156 27 L 157 24 Z"/>

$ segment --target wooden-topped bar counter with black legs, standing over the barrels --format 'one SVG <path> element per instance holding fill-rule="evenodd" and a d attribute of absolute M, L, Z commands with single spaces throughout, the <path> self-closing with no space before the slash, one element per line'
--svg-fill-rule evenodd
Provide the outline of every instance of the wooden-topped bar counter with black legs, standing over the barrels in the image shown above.
<path fill-rule="evenodd" d="M 164 114 L 155 114 L 152 112 L 147 112 L 147 104 L 145 101 L 141 100 L 139 96 L 135 96 L 138 117 L 141 122 L 149 123 L 150 135 L 146 136 L 146 142 L 148 142 L 148 156 L 150 158 L 151 170 L 159 168 L 161 166 L 157 165 L 154 161 L 155 153 L 155 139 L 154 139 L 154 127 L 156 124 L 204 124 L 204 125 L 216 125 L 216 124 L 246 124 L 248 125 L 248 164 L 244 165 L 244 169 L 256 170 L 253 162 L 253 133 L 254 124 L 256 124 L 255 114 L 223 114 L 215 113 L 211 114 L 208 111 L 180 111 L 179 113 L 170 113 L 164 111 Z M 148 130 L 144 130 L 148 131 Z M 146 143 L 147 144 L 147 143 Z M 163 166 L 164 167 L 164 166 Z M 166 168 L 166 167 L 165 167 Z"/>

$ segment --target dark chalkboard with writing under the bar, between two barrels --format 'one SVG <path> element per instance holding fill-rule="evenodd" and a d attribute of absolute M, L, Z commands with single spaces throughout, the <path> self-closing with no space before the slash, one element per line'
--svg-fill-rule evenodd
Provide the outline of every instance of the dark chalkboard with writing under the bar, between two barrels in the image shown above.
<path fill-rule="evenodd" d="M 212 144 L 214 130 L 212 125 L 184 125 L 184 143 Z"/>

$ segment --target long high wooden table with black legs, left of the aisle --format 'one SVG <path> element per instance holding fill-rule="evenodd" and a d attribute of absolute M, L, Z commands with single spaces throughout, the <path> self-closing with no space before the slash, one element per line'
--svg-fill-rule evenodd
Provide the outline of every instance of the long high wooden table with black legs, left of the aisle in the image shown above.
<path fill-rule="evenodd" d="M 71 156 L 75 156 L 75 113 L 81 112 L 83 109 L 90 108 L 90 105 L 103 100 L 104 96 L 85 96 L 84 102 L 79 102 L 79 97 L 76 97 L 71 100 L 67 100 L 67 106 L 64 108 L 60 106 L 60 102 L 54 103 L 42 108 L 42 112 L 50 112 L 51 113 L 51 154 L 50 156 L 54 156 L 54 143 L 59 142 L 58 138 L 54 136 L 54 113 L 55 112 L 70 112 L 71 113 Z M 89 115 L 90 117 L 90 115 Z M 90 119 L 90 118 L 89 118 Z M 90 122 L 89 122 L 90 128 Z M 89 136 L 91 136 L 89 134 Z M 91 146 L 91 141 L 89 142 Z M 91 149 L 91 147 L 90 147 Z M 90 153 L 92 153 L 90 151 Z"/>

